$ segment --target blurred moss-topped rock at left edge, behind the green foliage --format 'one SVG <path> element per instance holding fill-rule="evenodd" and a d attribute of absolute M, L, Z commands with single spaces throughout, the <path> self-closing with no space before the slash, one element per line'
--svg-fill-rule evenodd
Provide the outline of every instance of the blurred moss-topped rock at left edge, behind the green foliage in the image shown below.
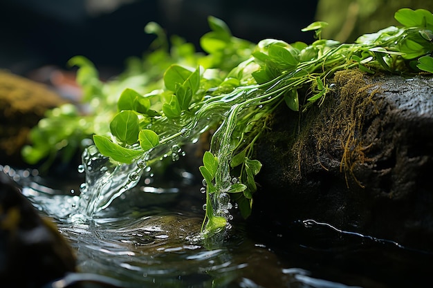
<path fill-rule="evenodd" d="M 66 101 L 48 86 L 0 70 L 0 162 L 24 165 L 21 148 L 48 108 Z"/>

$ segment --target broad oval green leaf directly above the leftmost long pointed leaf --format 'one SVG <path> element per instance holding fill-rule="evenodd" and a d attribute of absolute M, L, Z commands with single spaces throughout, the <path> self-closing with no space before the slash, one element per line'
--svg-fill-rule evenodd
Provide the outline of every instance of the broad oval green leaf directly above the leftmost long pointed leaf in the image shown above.
<path fill-rule="evenodd" d="M 136 113 L 124 110 L 118 113 L 110 122 L 111 133 L 126 144 L 134 144 L 138 140 L 140 125 Z"/>

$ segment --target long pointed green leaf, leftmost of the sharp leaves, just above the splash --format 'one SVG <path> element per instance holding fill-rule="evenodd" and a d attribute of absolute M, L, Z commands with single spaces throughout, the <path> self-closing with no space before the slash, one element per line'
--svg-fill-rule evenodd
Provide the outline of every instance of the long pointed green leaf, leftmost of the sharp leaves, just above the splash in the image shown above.
<path fill-rule="evenodd" d="M 122 163 L 131 164 L 133 160 L 143 153 L 140 150 L 122 147 L 101 135 L 93 135 L 93 142 L 95 142 L 96 147 L 102 155 L 111 157 L 111 159 Z"/>

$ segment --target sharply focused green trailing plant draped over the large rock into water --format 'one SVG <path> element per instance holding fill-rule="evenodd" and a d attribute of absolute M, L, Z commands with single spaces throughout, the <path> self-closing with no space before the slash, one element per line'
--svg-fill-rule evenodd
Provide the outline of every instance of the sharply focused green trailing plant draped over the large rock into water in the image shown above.
<path fill-rule="evenodd" d="M 212 32 L 201 39 L 209 54 L 190 54 L 194 65 L 173 63 L 158 90 L 123 90 L 110 133 L 95 131 L 95 145 L 114 161 L 151 165 L 216 129 L 199 168 L 207 196 L 203 232 L 216 233 L 228 224 L 232 202 L 244 218 L 250 215 L 255 175 L 261 169 L 254 145 L 277 106 L 306 111 L 320 105 L 333 90 L 331 77 L 337 70 L 432 73 L 432 13 L 402 9 L 395 18 L 403 26 L 362 35 L 354 44 L 321 39 L 326 23 L 316 22 L 304 29 L 315 31 L 310 45 L 264 39 L 253 46 L 210 17 Z M 84 79 L 82 84 L 93 87 Z"/>

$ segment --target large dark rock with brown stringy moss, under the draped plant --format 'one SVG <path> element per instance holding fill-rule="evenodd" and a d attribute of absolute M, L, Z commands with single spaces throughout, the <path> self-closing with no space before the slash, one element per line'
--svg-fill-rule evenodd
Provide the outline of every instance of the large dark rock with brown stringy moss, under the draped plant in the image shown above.
<path fill-rule="evenodd" d="M 433 251 L 433 78 L 335 74 L 306 113 L 286 108 L 257 146 L 252 219 L 313 219 Z"/>

